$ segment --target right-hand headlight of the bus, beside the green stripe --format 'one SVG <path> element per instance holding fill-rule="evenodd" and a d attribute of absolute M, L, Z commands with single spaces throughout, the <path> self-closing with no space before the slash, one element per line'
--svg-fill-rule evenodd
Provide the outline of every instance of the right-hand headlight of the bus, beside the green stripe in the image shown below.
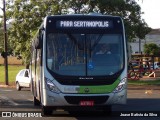
<path fill-rule="evenodd" d="M 123 78 L 113 92 L 114 93 L 121 92 L 124 89 L 126 82 L 127 78 Z"/>

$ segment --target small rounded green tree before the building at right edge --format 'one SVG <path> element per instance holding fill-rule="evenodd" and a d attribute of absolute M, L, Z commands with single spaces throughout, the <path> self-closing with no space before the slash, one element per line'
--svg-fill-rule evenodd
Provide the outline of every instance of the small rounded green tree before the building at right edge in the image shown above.
<path fill-rule="evenodd" d="M 149 55 L 158 55 L 160 53 L 160 47 L 155 43 L 145 44 L 144 53 Z"/>

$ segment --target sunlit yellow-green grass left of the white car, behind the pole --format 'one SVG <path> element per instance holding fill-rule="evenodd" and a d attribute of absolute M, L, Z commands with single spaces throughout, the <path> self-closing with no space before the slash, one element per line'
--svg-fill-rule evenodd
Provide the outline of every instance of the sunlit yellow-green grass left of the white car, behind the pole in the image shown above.
<path fill-rule="evenodd" d="M 8 66 L 8 81 L 9 85 L 15 82 L 15 78 L 19 70 L 24 69 L 22 65 L 9 65 Z M 0 65 L 0 84 L 5 84 L 5 72 L 4 66 Z"/>

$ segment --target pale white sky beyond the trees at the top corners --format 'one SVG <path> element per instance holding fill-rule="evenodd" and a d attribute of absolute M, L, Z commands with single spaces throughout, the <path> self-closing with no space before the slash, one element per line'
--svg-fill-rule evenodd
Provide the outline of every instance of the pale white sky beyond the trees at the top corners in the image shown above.
<path fill-rule="evenodd" d="M 142 18 L 149 27 L 156 29 L 160 28 L 160 0 L 135 0 L 141 6 L 141 11 L 144 12 Z M 0 0 L 2 8 L 2 0 Z M 0 9 L 0 14 L 2 10 Z"/>

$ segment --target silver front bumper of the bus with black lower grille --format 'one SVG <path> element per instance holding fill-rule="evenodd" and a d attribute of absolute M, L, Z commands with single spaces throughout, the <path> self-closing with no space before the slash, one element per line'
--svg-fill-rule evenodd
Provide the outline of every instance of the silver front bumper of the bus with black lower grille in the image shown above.
<path fill-rule="evenodd" d="M 80 106 L 82 101 L 92 101 L 94 106 L 126 104 L 127 90 L 108 94 L 63 94 L 46 90 L 44 106 Z"/>

